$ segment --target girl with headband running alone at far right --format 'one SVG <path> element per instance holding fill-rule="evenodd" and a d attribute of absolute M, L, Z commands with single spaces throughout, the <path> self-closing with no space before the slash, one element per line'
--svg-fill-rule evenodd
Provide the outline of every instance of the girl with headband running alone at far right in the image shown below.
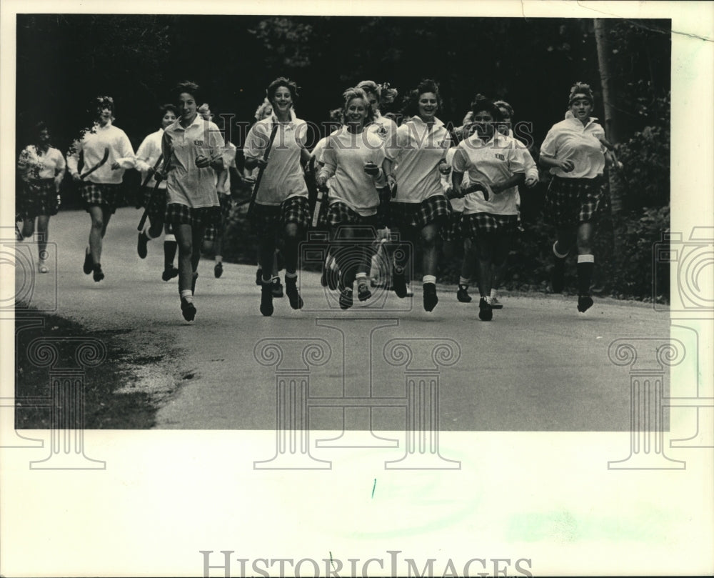
<path fill-rule="evenodd" d="M 595 257 L 593 236 L 598 213 L 607 199 L 605 131 L 590 116 L 593 91 L 576 82 L 568 96 L 565 120 L 554 124 L 540 147 L 540 166 L 550 169 L 553 179 L 545 196 L 545 217 L 555 226 L 553 292 L 563 292 L 565 257 L 573 244 L 578 249 L 578 311 L 593 305 L 590 281 Z"/>

